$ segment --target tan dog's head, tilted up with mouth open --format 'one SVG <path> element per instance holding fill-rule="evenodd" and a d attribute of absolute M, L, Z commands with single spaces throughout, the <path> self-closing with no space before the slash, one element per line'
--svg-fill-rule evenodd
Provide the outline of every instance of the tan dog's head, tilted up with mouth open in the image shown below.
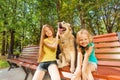
<path fill-rule="evenodd" d="M 69 35 L 72 33 L 72 29 L 71 29 L 71 25 L 69 23 L 66 22 L 59 22 L 58 23 L 58 27 L 59 27 L 59 34 L 60 35 Z"/>

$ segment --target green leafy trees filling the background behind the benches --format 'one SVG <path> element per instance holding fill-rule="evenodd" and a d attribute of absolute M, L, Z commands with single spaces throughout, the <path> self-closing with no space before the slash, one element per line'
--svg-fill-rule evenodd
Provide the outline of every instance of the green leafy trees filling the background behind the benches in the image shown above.
<path fill-rule="evenodd" d="M 120 0 L 0 0 L 0 53 L 20 53 L 39 45 L 43 24 L 60 21 L 73 33 L 86 28 L 93 35 L 120 31 Z"/>

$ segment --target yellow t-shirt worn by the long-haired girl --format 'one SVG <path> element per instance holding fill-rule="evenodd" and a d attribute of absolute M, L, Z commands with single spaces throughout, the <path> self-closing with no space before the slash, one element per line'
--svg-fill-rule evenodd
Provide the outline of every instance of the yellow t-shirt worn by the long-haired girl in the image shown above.
<path fill-rule="evenodd" d="M 53 41 L 50 41 L 48 39 L 44 39 L 45 42 L 48 43 L 54 43 Z M 43 46 L 43 50 L 44 50 L 44 56 L 41 62 L 46 62 L 46 61 L 54 61 L 56 60 L 56 50 L 57 49 L 50 49 L 49 47 L 47 47 L 46 45 Z"/>

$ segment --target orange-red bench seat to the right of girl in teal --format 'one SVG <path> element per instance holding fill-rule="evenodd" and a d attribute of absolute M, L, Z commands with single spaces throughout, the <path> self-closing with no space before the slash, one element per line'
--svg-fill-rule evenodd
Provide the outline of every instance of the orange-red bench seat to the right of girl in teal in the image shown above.
<path fill-rule="evenodd" d="M 120 80 L 120 71 L 109 66 L 98 66 L 97 71 L 93 75 L 106 80 Z"/>

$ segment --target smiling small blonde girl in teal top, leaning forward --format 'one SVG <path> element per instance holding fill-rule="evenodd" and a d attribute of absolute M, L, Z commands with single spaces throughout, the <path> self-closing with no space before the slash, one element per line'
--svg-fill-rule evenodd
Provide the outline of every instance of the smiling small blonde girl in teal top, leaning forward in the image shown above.
<path fill-rule="evenodd" d="M 76 35 L 77 67 L 71 80 L 94 80 L 92 72 L 97 69 L 94 43 L 91 34 L 81 29 Z"/>

